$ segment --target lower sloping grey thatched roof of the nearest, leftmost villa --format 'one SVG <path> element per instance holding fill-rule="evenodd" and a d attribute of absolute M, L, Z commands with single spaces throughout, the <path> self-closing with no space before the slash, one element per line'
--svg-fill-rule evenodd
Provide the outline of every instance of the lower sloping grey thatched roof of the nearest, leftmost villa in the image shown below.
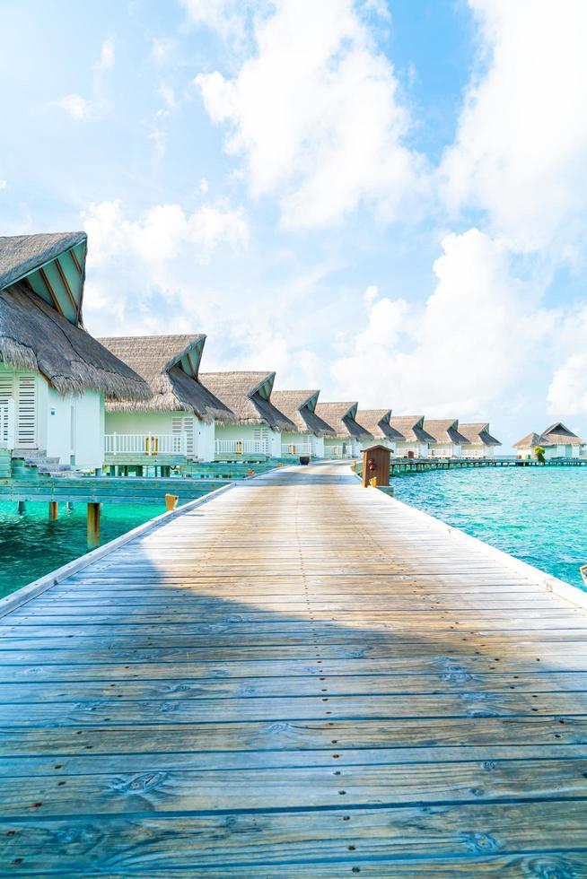
<path fill-rule="evenodd" d="M 116 400 L 151 396 L 126 363 L 22 283 L 0 291 L 0 360 L 42 372 L 60 394 L 93 389 Z"/>

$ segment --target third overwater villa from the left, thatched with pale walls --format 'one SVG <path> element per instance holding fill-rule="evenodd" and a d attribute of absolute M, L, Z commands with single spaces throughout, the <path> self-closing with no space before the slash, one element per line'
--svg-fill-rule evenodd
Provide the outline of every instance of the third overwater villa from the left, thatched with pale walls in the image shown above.
<path fill-rule="evenodd" d="M 282 433 L 297 428 L 271 400 L 275 372 L 206 372 L 200 379 L 235 416 L 215 425 L 215 460 L 281 457 Z"/>

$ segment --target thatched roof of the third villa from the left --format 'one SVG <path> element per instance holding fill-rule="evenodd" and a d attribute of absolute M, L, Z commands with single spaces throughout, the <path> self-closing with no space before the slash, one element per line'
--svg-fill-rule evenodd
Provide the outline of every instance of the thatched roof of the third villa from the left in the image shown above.
<path fill-rule="evenodd" d="M 241 424 L 267 424 L 272 431 L 295 433 L 296 427 L 271 402 L 275 372 L 206 372 L 201 381 L 234 413 Z"/>

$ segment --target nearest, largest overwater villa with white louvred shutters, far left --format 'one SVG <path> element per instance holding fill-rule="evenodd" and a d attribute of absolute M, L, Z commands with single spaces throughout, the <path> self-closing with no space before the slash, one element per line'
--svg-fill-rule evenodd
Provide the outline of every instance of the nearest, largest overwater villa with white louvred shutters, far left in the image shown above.
<path fill-rule="evenodd" d="M 145 381 L 83 328 L 84 232 L 0 238 L 0 454 L 95 470 L 104 397 L 143 402 Z"/>

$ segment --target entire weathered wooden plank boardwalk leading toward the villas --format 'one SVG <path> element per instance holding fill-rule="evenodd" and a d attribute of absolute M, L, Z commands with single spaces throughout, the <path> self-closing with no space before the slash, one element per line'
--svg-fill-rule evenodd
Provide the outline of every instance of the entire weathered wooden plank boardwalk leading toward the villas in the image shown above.
<path fill-rule="evenodd" d="M 587 614 L 347 472 L 0 620 L 2 875 L 587 875 Z"/>

